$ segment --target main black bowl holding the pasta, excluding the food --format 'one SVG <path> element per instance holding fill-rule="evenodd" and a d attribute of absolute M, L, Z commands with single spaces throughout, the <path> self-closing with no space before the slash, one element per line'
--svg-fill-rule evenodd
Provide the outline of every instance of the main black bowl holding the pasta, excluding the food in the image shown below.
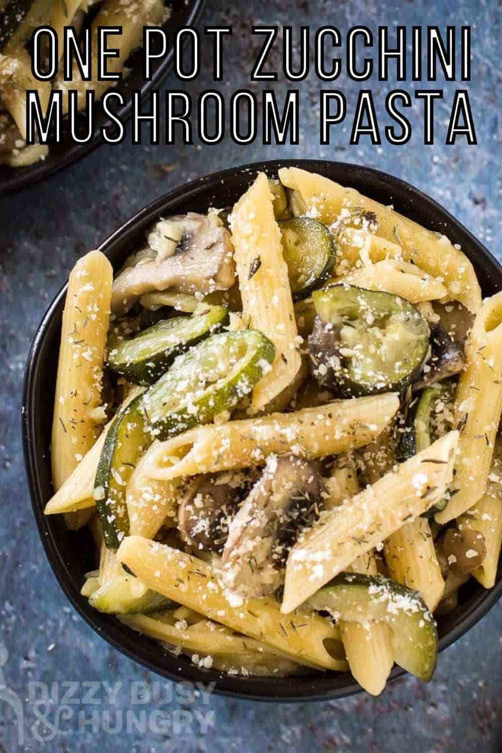
<path fill-rule="evenodd" d="M 300 166 L 320 172 L 328 178 L 357 188 L 386 205 L 394 204 L 398 212 L 425 227 L 445 233 L 453 243 L 461 245 L 476 267 L 483 294 L 494 294 L 502 287 L 500 264 L 465 227 L 435 201 L 385 172 L 318 160 L 254 163 L 206 175 L 141 209 L 102 243 L 100 248 L 118 267 L 126 255 L 143 242 L 145 228 L 160 215 L 205 211 L 209 206 L 227 206 L 245 191 L 258 171 L 275 175 L 281 166 Z M 50 566 L 68 599 L 87 623 L 111 645 L 152 672 L 169 679 L 200 680 L 205 683 L 214 681 L 218 693 L 254 700 L 326 700 L 360 691 L 361 688 L 348 674 L 327 673 L 310 677 L 262 679 L 197 669 L 187 658 L 172 656 L 152 639 L 138 636 L 114 617 L 100 614 L 80 595 L 84 573 L 95 567 L 90 536 L 86 532 L 68 532 L 62 516 L 44 517 L 42 512 L 53 493 L 50 480 L 50 425 L 65 291 L 66 288 L 62 288 L 50 304 L 29 352 L 24 383 L 23 447 L 38 530 Z M 480 620 L 501 593 L 502 566 L 499 566 L 497 584 L 491 590 L 483 589 L 476 582 L 467 584 L 461 590 L 460 603 L 455 612 L 439 620 L 440 651 Z M 391 678 L 400 675 L 403 675 L 403 670 L 394 667 Z"/>

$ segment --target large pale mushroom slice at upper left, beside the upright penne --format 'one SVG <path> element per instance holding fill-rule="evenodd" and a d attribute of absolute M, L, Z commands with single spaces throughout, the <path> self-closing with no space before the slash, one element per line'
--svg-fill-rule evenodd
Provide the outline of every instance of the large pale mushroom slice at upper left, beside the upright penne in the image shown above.
<path fill-rule="evenodd" d="M 127 311 L 151 291 L 208 294 L 235 282 L 232 239 L 214 213 L 189 212 L 157 222 L 148 233 L 148 249 L 126 264 L 114 280 L 115 313 Z"/>

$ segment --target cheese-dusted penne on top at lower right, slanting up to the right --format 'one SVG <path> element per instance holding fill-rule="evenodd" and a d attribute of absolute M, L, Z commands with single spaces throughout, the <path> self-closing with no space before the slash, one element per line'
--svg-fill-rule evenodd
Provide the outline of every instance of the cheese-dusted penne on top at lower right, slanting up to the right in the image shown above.
<path fill-rule="evenodd" d="M 458 431 L 397 466 L 325 516 L 288 556 L 281 611 L 291 612 L 327 581 L 443 498 Z"/>

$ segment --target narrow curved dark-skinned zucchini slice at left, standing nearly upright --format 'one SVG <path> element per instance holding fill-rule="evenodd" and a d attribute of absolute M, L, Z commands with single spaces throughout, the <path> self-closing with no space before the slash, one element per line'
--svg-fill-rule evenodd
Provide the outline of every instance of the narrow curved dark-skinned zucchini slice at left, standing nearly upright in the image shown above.
<path fill-rule="evenodd" d="M 126 484 L 138 457 L 152 442 L 140 410 L 144 394 L 117 413 L 99 456 L 94 499 L 108 549 L 117 549 L 123 536 L 129 533 Z"/>

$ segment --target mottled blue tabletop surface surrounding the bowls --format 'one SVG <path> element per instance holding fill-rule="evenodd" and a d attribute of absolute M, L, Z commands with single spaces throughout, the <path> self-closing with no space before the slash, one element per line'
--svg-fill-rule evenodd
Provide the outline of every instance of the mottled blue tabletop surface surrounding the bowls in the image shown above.
<path fill-rule="evenodd" d="M 222 697 L 184 699 L 173 684 L 159 681 L 99 639 L 67 605 L 50 572 L 29 506 L 20 442 L 20 400 L 23 367 L 29 344 L 47 304 L 64 282 L 68 270 L 126 218 L 154 197 L 184 181 L 227 166 L 276 157 L 326 157 L 367 164 L 394 173 L 420 187 L 445 205 L 494 254 L 500 245 L 500 0 L 458 2 L 402 2 L 402 0 L 248 0 L 208 2 L 199 28 L 231 24 L 227 42 L 225 93 L 249 87 L 248 72 L 259 40 L 250 43 L 248 29 L 260 23 L 333 24 L 344 32 L 364 24 L 376 32 L 389 26 L 417 23 L 470 24 L 473 28 L 473 81 L 467 86 L 476 119 L 479 145 L 463 140 L 444 146 L 446 123 L 455 84 L 447 84 L 444 102 L 437 105 L 437 142 L 421 144 L 421 118 L 413 108 L 415 132 L 408 145 L 348 146 L 348 127 L 333 131 L 330 147 L 318 146 L 318 81 L 300 84 L 301 139 L 296 147 L 239 147 L 225 139 L 216 147 L 165 146 L 101 148 L 85 160 L 21 193 L 0 206 L 0 326 L 2 380 L 0 389 L 0 644 L 8 650 L 3 667 L 5 683 L 24 703 L 24 743 L 30 751 L 498 751 L 502 746 L 502 606 L 496 605 L 473 630 L 441 656 L 434 680 L 424 685 L 404 678 L 388 687 L 379 699 L 358 696 L 330 703 L 260 705 Z M 211 87 L 211 56 L 205 53 L 207 73 L 187 90 L 193 95 Z M 272 61 L 278 56 L 272 56 Z M 391 67 L 391 71 L 393 68 Z M 166 87 L 179 88 L 174 78 Z M 286 84 L 275 84 L 279 101 Z M 373 89 L 380 125 L 385 119 L 385 93 L 392 84 L 376 80 Z M 400 84 L 403 86 L 403 84 Z M 435 84 L 433 85 L 435 86 Z M 424 83 L 427 87 L 427 83 Z M 442 87 L 442 85 L 440 85 Z M 257 90 L 256 84 L 251 88 Z M 357 84 L 343 75 L 341 88 L 354 107 Z M 166 172 L 166 166 L 172 171 Z M 2 651 L 0 650 L 0 663 Z M 99 686 L 100 705 L 71 703 L 60 708 L 36 707 L 29 700 L 29 682 L 56 683 L 84 702 L 86 687 L 70 682 L 120 682 L 114 703 Z M 132 703 L 145 683 L 144 700 Z M 157 685 L 155 683 L 157 682 Z M 2 675 L 0 675 L 0 685 Z M 87 686 L 89 687 L 89 686 Z M 5 696 L 5 693 L 4 693 Z M 17 749 L 14 712 L 2 702 L 0 690 L 0 751 Z M 58 711 L 59 709 L 59 711 Z M 132 709 L 146 733 L 127 731 L 126 710 Z M 171 714 L 165 720 L 155 715 Z M 80 724 L 95 714 L 96 730 Z M 172 715 L 172 712 L 176 712 Z M 185 712 L 185 714 L 180 712 Z M 141 713 L 146 715 L 141 719 Z M 204 714 L 205 728 L 197 718 Z M 110 729 L 107 731 L 109 718 Z M 50 725 L 44 724 L 44 719 Z M 130 720 L 129 720 L 130 721 Z M 163 726 L 162 726 L 163 725 Z M 130 724 L 129 724 L 130 727 Z M 47 739 L 47 742 L 41 742 Z"/>

